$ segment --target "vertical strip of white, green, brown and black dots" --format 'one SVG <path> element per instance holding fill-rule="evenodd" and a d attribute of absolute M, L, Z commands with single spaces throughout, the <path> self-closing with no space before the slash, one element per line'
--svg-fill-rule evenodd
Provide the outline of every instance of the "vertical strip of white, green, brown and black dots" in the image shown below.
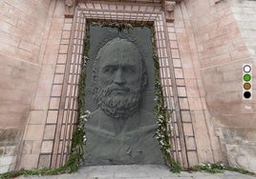
<path fill-rule="evenodd" d="M 252 65 L 243 65 L 243 99 L 252 99 Z"/>

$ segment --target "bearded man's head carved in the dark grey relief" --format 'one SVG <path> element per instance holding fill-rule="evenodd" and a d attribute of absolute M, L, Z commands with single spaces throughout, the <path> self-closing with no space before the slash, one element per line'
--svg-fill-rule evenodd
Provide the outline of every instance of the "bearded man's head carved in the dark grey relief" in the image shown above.
<path fill-rule="evenodd" d="M 93 83 L 96 103 L 107 115 L 122 119 L 132 116 L 147 84 L 137 47 L 126 39 L 109 41 L 97 53 Z"/>

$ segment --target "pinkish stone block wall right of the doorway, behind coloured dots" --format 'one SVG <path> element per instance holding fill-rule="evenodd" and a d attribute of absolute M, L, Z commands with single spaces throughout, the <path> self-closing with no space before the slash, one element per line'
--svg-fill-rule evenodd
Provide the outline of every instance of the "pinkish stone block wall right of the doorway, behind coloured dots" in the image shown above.
<path fill-rule="evenodd" d="M 229 164 L 255 171 L 255 100 L 243 100 L 243 64 L 254 63 L 255 2 L 186 0 L 184 8 L 208 120 Z"/>

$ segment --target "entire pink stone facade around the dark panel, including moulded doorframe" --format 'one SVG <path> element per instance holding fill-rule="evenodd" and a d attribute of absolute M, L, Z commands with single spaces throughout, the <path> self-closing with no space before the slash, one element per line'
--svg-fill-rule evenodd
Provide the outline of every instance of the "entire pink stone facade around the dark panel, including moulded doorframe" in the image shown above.
<path fill-rule="evenodd" d="M 62 0 L 4 0 L 0 8 L 0 172 L 65 163 L 86 18 L 154 21 L 164 99 L 174 110 L 168 128 L 183 166 L 256 170 L 255 100 L 241 94 L 242 65 L 256 53 L 255 1 L 183 0 L 172 23 L 158 3 L 80 3 L 75 27 Z"/>

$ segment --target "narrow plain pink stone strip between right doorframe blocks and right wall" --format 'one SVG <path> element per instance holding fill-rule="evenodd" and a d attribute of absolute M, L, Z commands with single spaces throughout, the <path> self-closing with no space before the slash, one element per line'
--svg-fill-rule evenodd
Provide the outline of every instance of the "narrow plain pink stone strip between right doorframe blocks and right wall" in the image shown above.
<path fill-rule="evenodd" d="M 199 56 L 198 30 L 195 30 L 193 20 L 202 18 L 202 14 L 191 14 L 199 12 L 200 7 L 205 6 L 205 1 L 183 1 L 175 9 L 175 30 L 178 39 L 178 48 L 181 55 L 181 67 L 184 78 L 184 86 L 188 98 L 193 131 L 195 133 L 198 163 L 215 163 L 224 161 L 224 155 L 220 149 L 218 138 L 210 120 L 210 113 L 206 106 L 205 91 L 203 90 L 203 79 L 201 75 L 202 59 Z M 198 7 L 195 7 L 198 5 Z M 206 26 L 207 23 L 205 23 Z M 202 28 L 203 29 L 203 28 Z M 171 49 L 174 47 L 171 46 Z M 186 121 L 187 116 L 181 115 Z M 189 141 L 187 148 L 189 148 Z M 191 156 L 189 157 L 191 158 Z M 196 162 L 192 165 L 198 164 Z"/>

